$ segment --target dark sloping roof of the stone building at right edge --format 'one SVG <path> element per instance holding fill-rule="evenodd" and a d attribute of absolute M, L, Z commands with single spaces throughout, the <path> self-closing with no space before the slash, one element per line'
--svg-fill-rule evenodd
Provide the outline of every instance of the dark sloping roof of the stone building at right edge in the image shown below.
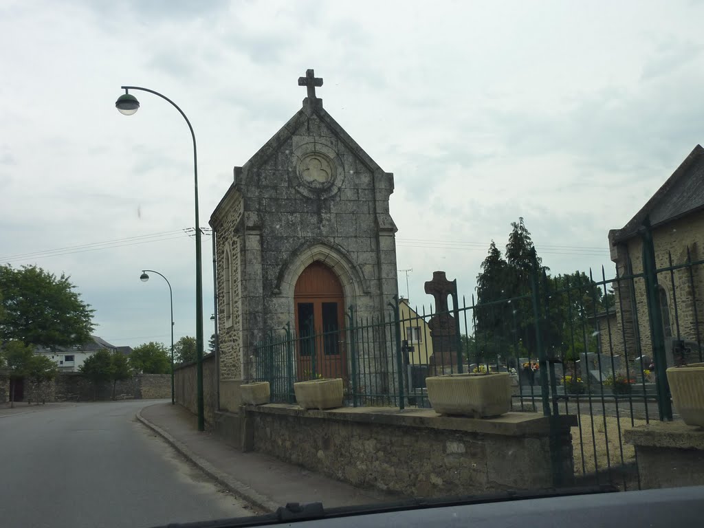
<path fill-rule="evenodd" d="M 624 227 L 609 233 L 609 239 L 614 244 L 634 237 L 646 218 L 651 227 L 658 227 L 702 208 L 704 149 L 697 145 L 646 205 Z"/>

